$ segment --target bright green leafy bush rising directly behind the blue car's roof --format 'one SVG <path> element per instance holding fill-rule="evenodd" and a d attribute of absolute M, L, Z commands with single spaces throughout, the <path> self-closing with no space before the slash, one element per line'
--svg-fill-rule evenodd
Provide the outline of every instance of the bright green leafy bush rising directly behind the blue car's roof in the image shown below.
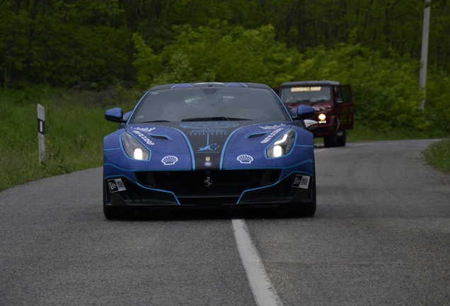
<path fill-rule="evenodd" d="M 299 60 L 295 50 L 275 41 L 272 26 L 246 30 L 216 21 L 196 30 L 183 26 L 177 33 L 173 44 L 161 52 L 160 60 L 135 36 L 135 67 L 140 85 L 254 81 L 277 86 L 289 77 L 290 67 Z M 162 68 L 155 69 L 155 63 L 160 62 Z M 158 76 L 154 75 L 156 71 L 160 72 Z"/>

